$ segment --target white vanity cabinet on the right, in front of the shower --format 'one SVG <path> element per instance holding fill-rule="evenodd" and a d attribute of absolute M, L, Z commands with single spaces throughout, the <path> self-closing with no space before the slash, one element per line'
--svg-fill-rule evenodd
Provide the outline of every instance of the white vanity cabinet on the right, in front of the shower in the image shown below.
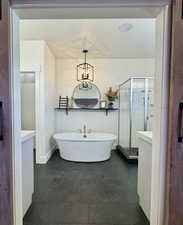
<path fill-rule="evenodd" d="M 151 171 L 152 171 L 152 132 L 137 132 L 138 158 L 138 196 L 139 204 L 150 220 L 151 211 Z"/>

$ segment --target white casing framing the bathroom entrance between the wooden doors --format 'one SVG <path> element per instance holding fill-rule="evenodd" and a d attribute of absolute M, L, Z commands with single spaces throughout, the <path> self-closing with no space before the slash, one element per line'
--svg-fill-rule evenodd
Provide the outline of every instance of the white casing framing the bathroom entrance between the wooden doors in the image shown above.
<path fill-rule="evenodd" d="M 27 2 L 27 1 L 25 1 Z M 31 0 L 29 1 L 31 2 Z M 39 2 L 43 2 L 39 0 Z M 58 2 L 58 1 L 57 1 Z M 14 225 L 22 224 L 22 210 L 21 210 L 21 165 L 18 165 L 19 160 L 21 159 L 21 138 L 20 138 L 20 80 L 19 80 L 19 19 L 44 19 L 44 18 L 73 18 L 73 11 L 75 12 L 75 18 L 86 18 L 87 15 L 90 18 L 106 18 L 109 15 L 109 18 L 120 18 L 120 9 L 123 10 L 123 7 L 129 9 L 134 6 L 134 3 L 128 5 L 127 1 L 125 4 L 114 4 L 109 5 L 109 3 L 102 4 L 101 6 L 96 5 L 80 5 L 80 7 L 75 7 L 74 4 L 68 6 L 62 4 L 51 5 L 49 8 L 35 7 L 34 1 L 31 5 L 24 4 L 22 0 L 14 1 L 13 8 L 11 9 L 12 17 L 12 89 L 13 89 L 13 165 L 14 165 Z M 138 7 L 148 7 L 149 1 L 137 1 L 135 6 Z M 144 2 L 142 4 L 142 2 Z M 152 2 L 152 1 L 151 1 Z M 163 2 L 163 3 L 162 3 Z M 21 5 L 22 3 L 23 5 Z M 164 216 L 164 186 L 165 186 L 165 166 L 166 166 L 166 149 L 167 149 L 167 121 L 168 121 L 168 92 L 169 92 L 169 53 L 170 53 L 170 14 L 171 14 L 171 5 L 170 1 L 156 1 L 157 5 L 153 3 L 153 7 L 157 6 L 158 16 L 159 16 L 159 26 L 162 28 L 161 39 L 159 40 L 160 51 L 158 52 L 157 57 L 162 57 L 161 61 L 157 61 L 157 73 L 159 76 L 156 76 L 155 86 L 158 87 L 161 92 L 160 96 L 156 96 L 156 105 L 157 110 L 155 112 L 155 127 L 156 129 L 154 138 L 158 144 L 153 147 L 153 187 L 152 187 L 152 212 L 151 212 L 151 225 L 163 225 L 163 216 Z M 150 3 L 152 6 L 152 3 Z M 163 5 L 162 5 L 163 4 Z M 159 8 L 161 5 L 161 9 Z M 23 6 L 23 7 L 22 7 Z M 42 5 L 43 6 L 43 5 Z M 59 7 L 58 7 L 59 6 Z M 72 12 L 71 9 L 72 8 Z M 116 9 L 116 11 L 115 11 Z M 85 11 L 86 10 L 86 11 Z M 130 9 L 129 9 L 130 11 Z M 72 15 L 71 15 L 72 13 Z M 133 14 L 133 13 L 132 13 Z M 126 14 L 125 14 L 126 15 Z M 133 14 L 135 15 L 135 14 Z M 145 15 L 145 14 L 144 14 Z M 151 15 L 152 16 L 152 15 Z M 136 17 L 137 18 L 137 17 Z M 167 69 L 168 68 L 168 69 Z M 18 131 L 18 132 L 17 132 Z M 161 150 L 161 151 L 160 151 Z"/>

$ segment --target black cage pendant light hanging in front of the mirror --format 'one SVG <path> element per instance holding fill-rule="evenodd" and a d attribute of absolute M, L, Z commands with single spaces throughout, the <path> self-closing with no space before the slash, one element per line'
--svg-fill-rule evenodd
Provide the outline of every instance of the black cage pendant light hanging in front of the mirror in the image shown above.
<path fill-rule="evenodd" d="M 84 53 L 84 63 L 77 65 L 77 81 L 84 84 L 87 87 L 88 83 L 94 81 L 94 67 L 86 62 L 86 55 L 88 50 L 83 50 Z"/>

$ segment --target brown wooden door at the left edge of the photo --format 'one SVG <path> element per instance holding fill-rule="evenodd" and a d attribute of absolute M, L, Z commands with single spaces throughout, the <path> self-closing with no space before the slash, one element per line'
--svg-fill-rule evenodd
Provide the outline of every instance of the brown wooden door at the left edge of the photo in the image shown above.
<path fill-rule="evenodd" d="M 12 225 L 9 2 L 0 0 L 0 225 Z"/>

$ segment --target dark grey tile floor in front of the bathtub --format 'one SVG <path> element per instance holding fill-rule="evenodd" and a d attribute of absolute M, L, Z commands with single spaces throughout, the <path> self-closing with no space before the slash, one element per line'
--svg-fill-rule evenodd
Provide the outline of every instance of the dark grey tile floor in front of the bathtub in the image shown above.
<path fill-rule="evenodd" d="M 67 162 L 55 152 L 47 165 L 35 166 L 24 225 L 148 225 L 136 190 L 137 165 L 117 152 L 101 163 Z"/>

